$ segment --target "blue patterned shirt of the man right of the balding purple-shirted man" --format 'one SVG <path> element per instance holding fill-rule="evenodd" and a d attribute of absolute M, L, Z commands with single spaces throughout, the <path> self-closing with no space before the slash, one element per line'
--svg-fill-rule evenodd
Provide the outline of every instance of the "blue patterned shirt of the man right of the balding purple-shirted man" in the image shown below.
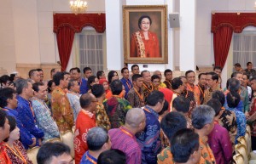
<path fill-rule="evenodd" d="M 143 108 L 146 115 L 144 131 L 137 133 L 137 142 L 141 147 L 143 164 L 156 164 L 157 154 L 161 150 L 159 115 L 147 105 Z"/>

